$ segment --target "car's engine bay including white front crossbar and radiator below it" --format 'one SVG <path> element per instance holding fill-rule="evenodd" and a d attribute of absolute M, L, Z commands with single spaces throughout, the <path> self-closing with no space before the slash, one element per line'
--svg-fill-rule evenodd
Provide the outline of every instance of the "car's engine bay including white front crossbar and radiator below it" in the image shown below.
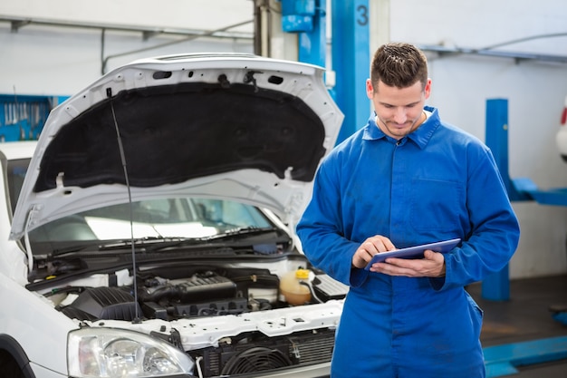
<path fill-rule="evenodd" d="M 167 322 L 149 334 L 189 354 L 202 378 L 329 362 L 348 287 L 311 268 L 303 283 L 309 300 L 293 305 L 281 283 L 306 264 L 283 260 L 279 270 L 266 265 L 278 274 L 262 267 L 154 266 L 137 272 L 136 285 L 109 275 L 108 286 L 70 283 L 43 296 L 83 325 Z"/>

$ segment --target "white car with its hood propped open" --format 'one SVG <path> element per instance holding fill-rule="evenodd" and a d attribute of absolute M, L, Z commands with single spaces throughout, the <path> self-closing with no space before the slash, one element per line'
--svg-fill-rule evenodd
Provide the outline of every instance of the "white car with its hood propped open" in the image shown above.
<path fill-rule="evenodd" d="M 341 127 L 322 75 L 141 60 L 55 108 L 37 143 L 0 144 L 3 376 L 327 375 L 348 287 L 294 234 Z"/>

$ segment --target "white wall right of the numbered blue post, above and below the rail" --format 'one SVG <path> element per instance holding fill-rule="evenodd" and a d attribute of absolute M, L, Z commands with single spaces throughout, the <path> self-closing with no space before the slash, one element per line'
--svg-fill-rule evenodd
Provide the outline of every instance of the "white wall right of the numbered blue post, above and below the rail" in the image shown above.
<path fill-rule="evenodd" d="M 395 0 L 389 2 L 389 38 L 414 44 L 483 48 L 542 34 L 567 34 L 564 0 Z M 567 35 L 510 44 L 499 50 L 567 56 Z M 509 172 L 541 189 L 567 188 L 567 164 L 555 148 L 567 63 L 519 62 L 459 55 L 430 59 L 429 103 L 445 121 L 485 141 L 485 102 L 508 100 Z M 515 202 L 522 234 L 511 277 L 567 271 L 567 208 Z"/>

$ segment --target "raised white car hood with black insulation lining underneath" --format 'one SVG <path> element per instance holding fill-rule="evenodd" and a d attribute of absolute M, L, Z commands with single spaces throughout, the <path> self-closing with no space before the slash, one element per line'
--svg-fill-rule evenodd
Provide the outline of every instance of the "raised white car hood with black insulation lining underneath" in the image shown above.
<path fill-rule="evenodd" d="M 10 238 L 130 197 L 236 199 L 293 224 L 342 118 L 310 64 L 208 53 L 124 65 L 51 112 Z"/>

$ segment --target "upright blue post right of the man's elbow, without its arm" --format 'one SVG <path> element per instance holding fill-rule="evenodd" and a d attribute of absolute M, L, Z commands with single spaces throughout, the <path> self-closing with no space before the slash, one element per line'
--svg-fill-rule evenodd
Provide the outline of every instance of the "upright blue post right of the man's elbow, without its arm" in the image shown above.
<path fill-rule="evenodd" d="M 514 187 L 508 174 L 508 100 L 492 99 L 486 101 L 486 146 L 492 150 L 496 165 L 504 179 L 510 199 Z M 510 299 L 509 267 L 506 266 L 482 283 L 482 297 L 492 301 Z"/>

